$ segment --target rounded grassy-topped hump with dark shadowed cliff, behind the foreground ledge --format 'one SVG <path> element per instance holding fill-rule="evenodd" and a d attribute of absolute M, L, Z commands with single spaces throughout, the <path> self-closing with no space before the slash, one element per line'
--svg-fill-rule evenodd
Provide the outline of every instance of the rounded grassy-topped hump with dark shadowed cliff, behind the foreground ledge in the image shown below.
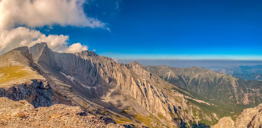
<path fill-rule="evenodd" d="M 53 104 L 47 80 L 33 64 L 28 47 L 20 47 L 0 56 L 0 97 L 27 100 L 34 107 Z"/>

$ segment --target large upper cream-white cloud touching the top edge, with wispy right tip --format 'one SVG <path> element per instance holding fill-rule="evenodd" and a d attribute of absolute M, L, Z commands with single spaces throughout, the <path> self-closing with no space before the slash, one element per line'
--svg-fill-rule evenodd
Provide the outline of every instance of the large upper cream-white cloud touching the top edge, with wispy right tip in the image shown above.
<path fill-rule="evenodd" d="M 0 0 L 0 28 L 59 24 L 104 28 L 106 24 L 84 13 L 85 0 Z"/>

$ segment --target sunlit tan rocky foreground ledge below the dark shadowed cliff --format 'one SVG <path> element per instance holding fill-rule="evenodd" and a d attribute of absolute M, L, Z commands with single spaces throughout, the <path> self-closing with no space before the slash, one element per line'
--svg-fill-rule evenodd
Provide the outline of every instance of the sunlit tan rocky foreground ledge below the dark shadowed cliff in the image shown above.
<path fill-rule="evenodd" d="M 0 128 L 125 128 L 130 126 L 105 123 L 84 113 L 80 107 L 55 104 L 38 107 L 26 100 L 0 98 Z M 131 127 L 130 127 L 131 128 Z"/>

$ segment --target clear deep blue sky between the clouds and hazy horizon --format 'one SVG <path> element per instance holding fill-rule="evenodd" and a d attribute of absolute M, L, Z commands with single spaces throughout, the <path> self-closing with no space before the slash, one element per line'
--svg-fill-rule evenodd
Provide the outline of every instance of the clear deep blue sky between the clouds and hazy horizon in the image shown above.
<path fill-rule="evenodd" d="M 262 60 L 261 0 L 93 0 L 84 9 L 111 31 L 39 30 L 118 59 Z"/>

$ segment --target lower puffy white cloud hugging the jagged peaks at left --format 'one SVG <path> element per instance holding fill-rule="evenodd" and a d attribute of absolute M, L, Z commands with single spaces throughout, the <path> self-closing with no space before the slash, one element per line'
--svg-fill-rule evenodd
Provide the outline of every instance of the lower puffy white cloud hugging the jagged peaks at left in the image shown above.
<path fill-rule="evenodd" d="M 48 35 L 38 30 L 18 27 L 0 31 L 0 55 L 17 47 L 32 46 L 39 42 L 47 42 L 48 47 L 56 52 L 74 53 L 88 50 L 88 46 L 74 43 L 69 45 L 67 35 Z M 69 45 L 69 46 L 68 46 Z"/>

